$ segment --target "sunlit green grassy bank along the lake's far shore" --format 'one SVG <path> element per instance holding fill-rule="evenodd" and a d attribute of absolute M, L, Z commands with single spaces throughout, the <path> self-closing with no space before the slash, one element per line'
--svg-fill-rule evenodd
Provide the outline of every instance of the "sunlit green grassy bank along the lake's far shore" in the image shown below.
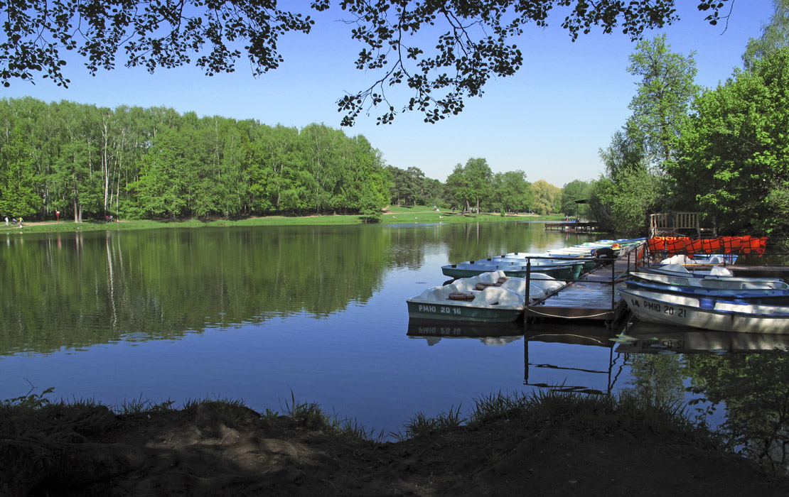
<path fill-rule="evenodd" d="M 497 221 L 556 221 L 564 219 L 563 216 L 537 216 L 535 214 L 507 214 L 499 213 L 461 214 L 451 211 L 434 211 L 426 206 L 416 207 L 389 207 L 384 210 L 380 223 L 377 224 L 456 224 Z M 212 217 L 209 219 L 156 219 L 144 221 L 25 221 L 23 226 L 0 224 L 0 233 L 28 233 L 28 232 L 87 232 L 87 231 L 117 231 L 130 229 L 160 229 L 160 228 L 207 228 L 231 226 L 321 226 L 343 224 L 365 224 L 365 219 L 359 215 L 327 214 L 321 216 L 264 216 L 243 217 L 239 219 L 222 219 Z"/>

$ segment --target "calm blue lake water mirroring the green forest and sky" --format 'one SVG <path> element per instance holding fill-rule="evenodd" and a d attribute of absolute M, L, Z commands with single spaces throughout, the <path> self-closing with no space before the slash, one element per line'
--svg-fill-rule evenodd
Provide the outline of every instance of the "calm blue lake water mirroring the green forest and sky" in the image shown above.
<path fill-rule="evenodd" d="M 409 324 L 405 300 L 447 280 L 441 265 L 588 239 L 522 222 L 5 234 L 0 399 L 32 384 L 110 405 L 208 395 L 281 410 L 292 393 L 396 431 L 417 411 L 467 413 L 498 391 L 685 395 L 685 353 L 724 345 L 675 336 L 636 350 L 603 327 L 540 325 L 524 339 L 521 325 Z"/>

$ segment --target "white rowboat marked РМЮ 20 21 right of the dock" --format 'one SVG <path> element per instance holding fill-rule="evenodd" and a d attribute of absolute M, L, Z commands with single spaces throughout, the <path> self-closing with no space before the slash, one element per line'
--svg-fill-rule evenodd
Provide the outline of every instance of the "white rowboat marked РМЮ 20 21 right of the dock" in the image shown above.
<path fill-rule="evenodd" d="M 740 304 L 705 297 L 617 288 L 641 321 L 716 332 L 789 333 L 789 306 Z"/>

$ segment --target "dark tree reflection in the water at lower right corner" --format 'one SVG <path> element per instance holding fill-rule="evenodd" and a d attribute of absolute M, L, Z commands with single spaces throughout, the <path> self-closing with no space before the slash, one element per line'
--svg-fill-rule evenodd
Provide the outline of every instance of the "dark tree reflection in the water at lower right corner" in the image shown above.
<path fill-rule="evenodd" d="M 787 469 L 789 357 L 763 354 L 694 356 L 691 390 L 713 405 L 724 403 L 720 426 L 727 448 L 756 458 L 775 473 Z"/>

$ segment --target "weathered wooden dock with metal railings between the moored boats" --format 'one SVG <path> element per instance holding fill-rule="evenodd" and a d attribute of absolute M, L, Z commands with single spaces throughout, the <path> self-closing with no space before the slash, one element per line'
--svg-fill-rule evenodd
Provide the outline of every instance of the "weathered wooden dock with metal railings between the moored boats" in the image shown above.
<path fill-rule="evenodd" d="M 526 326 L 529 321 L 544 319 L 600 321 L 605 325 L 619 321 L 626 314 L 627 306 L 614 291 L 614 284 L 626 278 L 628 269 L 635 269 L 644 250 L 645 244 L 625 247 L 613 264 L 601 265 L 526 306 Z"/>

